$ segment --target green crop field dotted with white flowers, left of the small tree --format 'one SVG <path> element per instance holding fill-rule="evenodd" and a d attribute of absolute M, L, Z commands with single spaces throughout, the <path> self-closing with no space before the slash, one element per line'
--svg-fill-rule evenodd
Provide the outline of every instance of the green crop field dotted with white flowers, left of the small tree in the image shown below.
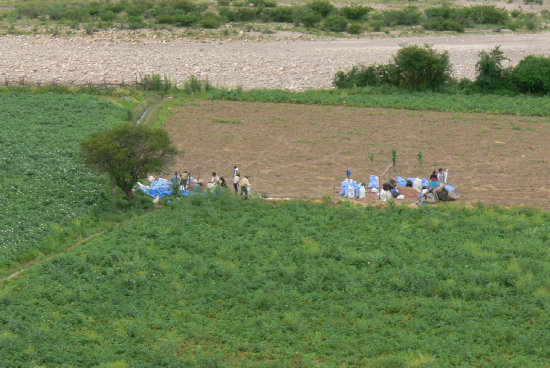
<path fill-rule="evenodd" d="M 98 205 L 103 181 L 80 161 L 79 141 L 123 117 L 89 95 L 0 92 L 0 267 Z"/>

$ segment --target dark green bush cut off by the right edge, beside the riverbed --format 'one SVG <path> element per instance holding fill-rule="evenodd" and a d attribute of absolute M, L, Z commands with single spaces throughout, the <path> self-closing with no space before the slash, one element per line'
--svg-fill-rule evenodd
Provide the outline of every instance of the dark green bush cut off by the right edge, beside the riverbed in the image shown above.
<path fill-rule="evenodd" d="M 550 93 L 550 58 L 529 55 L 512 71 L 519 89 L 530 93 Z"/>

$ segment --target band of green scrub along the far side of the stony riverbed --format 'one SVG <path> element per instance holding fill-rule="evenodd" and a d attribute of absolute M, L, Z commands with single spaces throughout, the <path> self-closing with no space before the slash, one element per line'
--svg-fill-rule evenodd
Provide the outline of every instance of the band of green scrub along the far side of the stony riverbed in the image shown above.
<path fill-rule="evenodd" d="M 375 11 L 360 5 L 337 8 L 328 0 L 313 0 L 304 6 L 277 6 L 273 0 L 218 0 L 217 7 L 192 0 L 101 0 L 71 5 L 31 2 L 4 11 L 0 17 L 50 19 L 71 25 L 97 22 L 120 28 L 143 28 L 153 24 L 218 28 L 228 22 L 278 22 L 349 33 L 361 33 L 366 27 L 379 31 L 382 27 L 422 25 L 437 31 L 462 32 L 465 27 L 484 24 L 512 29 L 537 25 L 534 14 L 509 13 L 493 5 L 435 7 L 424 11 L 408 6 L 400 10 Z"/>

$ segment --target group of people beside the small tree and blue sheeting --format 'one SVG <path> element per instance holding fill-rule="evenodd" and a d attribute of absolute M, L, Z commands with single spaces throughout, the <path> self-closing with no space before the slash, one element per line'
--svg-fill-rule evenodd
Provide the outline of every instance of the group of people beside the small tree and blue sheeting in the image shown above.
<path fill-rule="evenodd" d="M 195 183 L 191 190 L 200 192 L 203 189 L 203 185 L 200 180 L 195 180 L 191 176 L 190 170 L 183 172 L 180 175 L 177 171 L 172 176 L 172 188 L 173 190 L 189 190 L 189 186 Z M 213 192 L 217 188 L 227 188 L 227 181 L 225 178 L 219 177 L 216 172 L 212 173 L 210 181 L 206 184 L 206 189 Z M 249 198 L 251 194 L 251 185 L 248 176 L 242 176 L 239 172 L 239 167 L 235 165 L 233 167 L 233 188 L 236 194 L 241 194 L 244 198 Z"/>

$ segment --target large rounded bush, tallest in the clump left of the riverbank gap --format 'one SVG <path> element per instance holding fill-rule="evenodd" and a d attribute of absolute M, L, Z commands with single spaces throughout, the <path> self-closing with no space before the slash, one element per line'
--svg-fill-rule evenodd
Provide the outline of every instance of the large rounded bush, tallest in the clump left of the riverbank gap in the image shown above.
<path fill-rule="evenodd" d="M 449 53 L 438 53 L 428 45 L 403 47 L 395 55 L 394 62 L 400 85 L 407 88 L 439 89 L 450 79 Z"/>

